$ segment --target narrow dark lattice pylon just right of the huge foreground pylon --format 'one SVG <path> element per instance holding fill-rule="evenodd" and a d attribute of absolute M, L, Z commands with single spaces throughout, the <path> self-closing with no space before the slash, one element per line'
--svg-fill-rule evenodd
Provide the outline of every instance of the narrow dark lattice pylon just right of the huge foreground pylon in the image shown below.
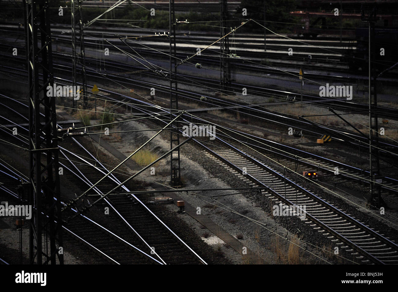
<path fill-rule="evenodd" d="M 77 2 L 77 7 L 76 7 Z M 84 52 L 84 30 L 82 22 L 82 0 L 71 0 L 71 27 L 72 27 L 72 85 L 77 86 L 78 75 L 80 75 L 81 88 L 80 96 L 83 96 L 84 108 L 87 108 L 88 91 L 86 84 L 86 56 Z M 76 35 L 76 27 L 79 33 Z M 76 44 L 79 43 L 79 50 L 76 50 Z M 80 74 L 78 73 L 78 65 L 80 65 Z M 76 87 L 73 87 L 76 88 Z M 73 108 L 76 108 L 76 101 L 73 99 Z"/>

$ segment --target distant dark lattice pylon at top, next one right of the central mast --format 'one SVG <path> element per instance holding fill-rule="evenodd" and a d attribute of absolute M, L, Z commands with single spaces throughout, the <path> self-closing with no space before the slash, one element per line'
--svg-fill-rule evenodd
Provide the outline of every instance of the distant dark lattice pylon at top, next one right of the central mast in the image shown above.
<path fill-rule="evenodd" d="M 229 36 L 226 35 L 229 31 L 226 29 L 228 24 L 228 3 L 227 0 L 220 2 L 220 89 L 226 90 L 231 86 L 231 67 L 230 67 L 230 50 L 229 50 Z"/>

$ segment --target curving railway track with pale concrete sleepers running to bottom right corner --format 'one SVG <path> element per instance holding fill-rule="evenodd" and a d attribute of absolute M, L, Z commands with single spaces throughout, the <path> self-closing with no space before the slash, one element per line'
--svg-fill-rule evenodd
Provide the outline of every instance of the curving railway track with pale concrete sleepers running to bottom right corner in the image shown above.
<path fill-rule="evenodd" d="M 295 183 L 273 168 L 257 161 L 230 144 L 217 139 L 217 143 L 203 145 L 211 158 L 218 160 L 223 166 L 229 166 L 238 176 L 247 176 L 257 186 L 263 186 L 266 191 L 262 194 L 275 202 L 293 206 L 300 206 L 305 210 L 306 224 L 309 224 L 322 235 L 327 236 L 335 246 L 351 252 L 362 263 L 398 264 L 398 246 L 384 234 L 379 234 L 344 213 L 321 197 L 316 196 Z M 197 143 L 200 143 L 197 141 Z M 242 175 L 243 171 L 247 173 Z M 293 210 L 293 215 L 298 215 Z"/>

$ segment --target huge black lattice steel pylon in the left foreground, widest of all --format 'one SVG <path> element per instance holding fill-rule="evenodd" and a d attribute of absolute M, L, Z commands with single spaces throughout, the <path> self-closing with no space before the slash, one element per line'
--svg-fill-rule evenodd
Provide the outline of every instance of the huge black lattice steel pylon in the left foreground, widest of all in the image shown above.
<path fill-rule="evenodd" d="M 25 0 L 29 76 L 30 263 L 63 264 L 57 118 L 48 0 Z M 40 41 L 38 36 L 40 35 Z M 39 41 L 39 43 L 38 43 Z M 40 110 L 44 115 L 41 115 Z M 58 244 L 58 247 L 57 247 Z"/>

